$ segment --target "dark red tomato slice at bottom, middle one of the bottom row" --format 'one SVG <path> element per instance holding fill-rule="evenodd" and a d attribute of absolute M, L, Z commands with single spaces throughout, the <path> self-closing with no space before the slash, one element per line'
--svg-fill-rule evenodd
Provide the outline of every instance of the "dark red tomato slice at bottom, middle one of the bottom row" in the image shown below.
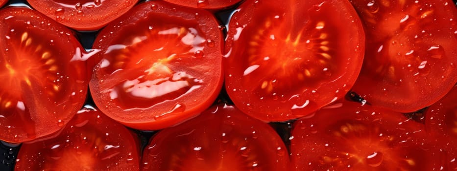
<path fill-rule="evenodd" d="M 154 135 L 142 171 L 287 171 L 288 156 L 269 125 L 219 105 Z"/>

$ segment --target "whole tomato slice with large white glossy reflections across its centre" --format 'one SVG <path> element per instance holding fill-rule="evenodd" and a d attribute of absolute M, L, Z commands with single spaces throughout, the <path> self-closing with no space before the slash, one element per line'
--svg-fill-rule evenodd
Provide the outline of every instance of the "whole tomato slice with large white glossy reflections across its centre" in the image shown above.
<path fill-rule="evenodd" d="M 115 34 L 114 34 L 115 33 Z M 100 110 L 137 129 L 166 128 L 214 102 L 221 32 L 205 10 L 149 1 L 104 28 L 90 88 Z"/>

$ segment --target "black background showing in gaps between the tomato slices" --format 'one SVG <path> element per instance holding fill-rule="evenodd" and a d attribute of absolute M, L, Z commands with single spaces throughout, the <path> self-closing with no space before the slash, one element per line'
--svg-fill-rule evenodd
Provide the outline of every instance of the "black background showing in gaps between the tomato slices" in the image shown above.
<path fill-rule="evenodd" d="M 143 2 L 145 0 L 140 0 L 139 3 Z M 457 5 L 457 0 L 453 0 L 454 3 Z M 5 5 L 8 6 L 9 4 L 26 4 L 27 6 L 28 3 L 26 0 L 10 0 L 7 2 Z M 236 9 L 237 6 L 234 6 L 229 9 L 225 9 L 222 11 L 218 11 L 215 13 L 216 18 L 219 20 L 221 25 L 227 25 L 228 19 L 232 12 Z M 79 41 L 81 44 L 84 46 L 86 49 L 90 49 L 92 47 L 92 43 L 94 42 L 97 31 L 95 32 L 76 32 L 77 37 L 79 38 Z M 224 34 L 225 34 L 225 29 L 224 29 Z M 351 98 L 351 96 L 348 96 Z M 354 97 L 351 98 L 352 100 L 355 101 L 360 101 L 360 99 L 354 99 Z M 225 92 L 225 89 L 222 89 L 222 91 L 219 94 L 219 97 L 217 98 L 215 104 L 217 103 L 228 103 L 232 104 L 230 101 L 230 98 L 228 97 L 227 93 Z M 92 101 L 92 97 L 90 96 L 90 93 L 88 93 L 88 98 L 86 100 L 87 105 L 94 105 L 94 102 Z M 415 114 L 415 113 L 411 113 Z M 408 114 L 407 114 L 408 115 Z M 286 143 L 286 145 L 289 147 L 289 132 L 291 128 L 292 122 L 286 122 L 286 123 L 270 123 L 270 125 L 276 129 L 276 131 L 279 133 L 283 141 Z M 135 130 L 131 129 L 134 132 L 138 134 L 139 139 L 142 142 L 143 148 L 146 146 L 147 142 L 149 141 L 149 138 L 155 133 L 155 131 L 141 131 L 141 130 Z M 14 169 L 14 164 L 16 162 L 16 156 L 19 152 L 20 145 L 11 145 L 7 144 L 1 141 L 0 143 L 0 171 L 13 171 Z"/>

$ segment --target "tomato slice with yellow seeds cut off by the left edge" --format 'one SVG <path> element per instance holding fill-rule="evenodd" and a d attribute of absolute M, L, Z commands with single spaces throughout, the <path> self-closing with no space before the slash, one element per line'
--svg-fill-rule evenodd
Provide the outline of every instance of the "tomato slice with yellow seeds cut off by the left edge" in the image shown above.
<path fill-rule="evenodd" d="M 55 132 L 85 101 L 83 48 L 71 30 L 37 11 L 5 8 L 0 19 L 0 139 Z"/>

